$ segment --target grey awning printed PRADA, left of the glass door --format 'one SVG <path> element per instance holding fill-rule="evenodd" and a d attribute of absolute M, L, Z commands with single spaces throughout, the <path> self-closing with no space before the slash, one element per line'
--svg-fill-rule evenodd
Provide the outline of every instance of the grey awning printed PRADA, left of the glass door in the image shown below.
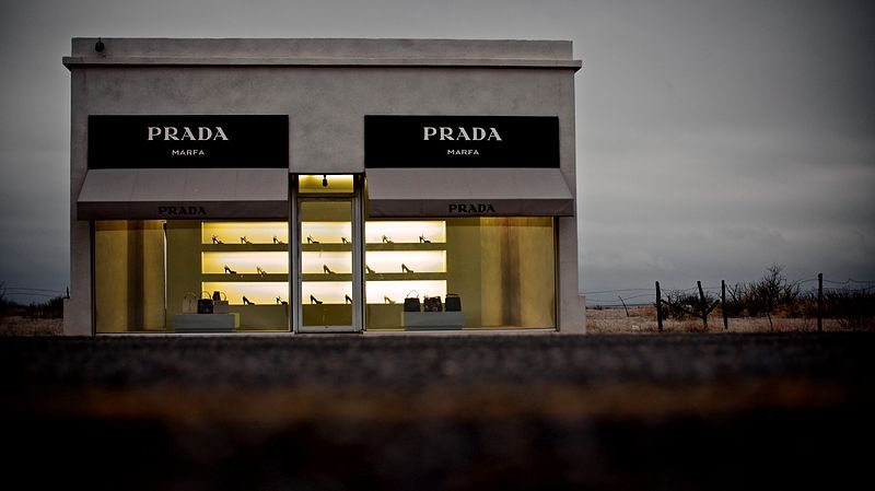
<path fill-rule="evenodd" d="M 77 200 L 79 220 L 288 215 L 285 168 L 92 169 Z"/>

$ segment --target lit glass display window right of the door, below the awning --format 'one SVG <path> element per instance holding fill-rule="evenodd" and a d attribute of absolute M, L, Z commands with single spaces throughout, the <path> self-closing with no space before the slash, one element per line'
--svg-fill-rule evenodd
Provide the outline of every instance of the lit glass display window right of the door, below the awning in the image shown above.
<path fill-rule="evenodd" d="M 556 327 L 552 218 L 372 220 L 365 239 L 369 329 Z M 433 296 L 443 312 L 404 309 Z"/>

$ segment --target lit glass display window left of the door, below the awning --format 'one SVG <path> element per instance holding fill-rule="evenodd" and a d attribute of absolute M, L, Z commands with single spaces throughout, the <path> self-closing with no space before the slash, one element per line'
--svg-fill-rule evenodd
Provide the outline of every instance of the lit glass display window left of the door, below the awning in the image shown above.
<path fill-rule="evenodd" d="M 94 246 L 98 334 L 289 329 L 288 222 L 97 221 Z"/>

